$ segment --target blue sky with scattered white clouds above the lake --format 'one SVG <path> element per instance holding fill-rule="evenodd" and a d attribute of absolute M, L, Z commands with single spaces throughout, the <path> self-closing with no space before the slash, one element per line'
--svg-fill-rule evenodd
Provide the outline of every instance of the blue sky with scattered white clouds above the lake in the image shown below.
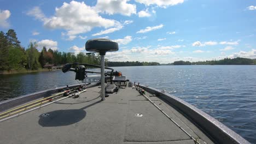
<path fill-rule="evenodd" d="M 93 38 L 119 44 L 109 61 L 206 61 L 256 58 L 253 0 L 0 0 L 0 31 L 21 45 L 85 51 Z"/>

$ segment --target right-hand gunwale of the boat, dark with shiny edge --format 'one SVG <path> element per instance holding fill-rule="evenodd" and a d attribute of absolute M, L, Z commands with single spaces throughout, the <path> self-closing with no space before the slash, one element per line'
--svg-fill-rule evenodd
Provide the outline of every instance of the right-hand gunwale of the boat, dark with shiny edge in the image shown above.
<path fill-rule="evenodd" d="M 194 123 L 199 125 L 202 130 L 205 130 L 208 135 L 210 135 L 214 140 L 219 143 L 245 143 L 249 144 L 246 139 L 238 135 L 235 131 L 226 127 L 223 123 L 219 122 L 217 119 L 198 109 L 197 107 L 187 103 L 186 101 L 179 99 L 168 93 L 163 93 L 159 89 L 153 87 L 147 87 L 144 85 L 139 85 L 145 91 L 152 94 L 158 95 L 159 98 L 167 101 L 171 106 L 178 109 L 185 116 L 190 118 Z"/>

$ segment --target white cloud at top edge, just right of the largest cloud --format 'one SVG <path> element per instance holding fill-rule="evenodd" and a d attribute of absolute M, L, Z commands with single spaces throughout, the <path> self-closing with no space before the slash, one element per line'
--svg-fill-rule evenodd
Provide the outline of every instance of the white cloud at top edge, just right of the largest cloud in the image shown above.
<path fill-rule="evenodd" d="M 129 0 L 128 0 L 129 1 Z M 136 14 L 136 5 L 127 0 L 98 0 L 95 9 L 109 15 L 121 14 L 131 16 Z"/>

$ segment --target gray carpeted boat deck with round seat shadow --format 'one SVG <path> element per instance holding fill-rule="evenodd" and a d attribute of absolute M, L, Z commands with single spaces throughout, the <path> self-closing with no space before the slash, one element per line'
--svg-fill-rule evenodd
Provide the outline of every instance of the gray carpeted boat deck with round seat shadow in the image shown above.
<path fill-rule="evenodd" d="M 146 95 L 151 95 L 146 93 Z M 158 97 L 150 97 L 201 143 L 213 143 Z M 42 117 L 49 113 L 48 117 Z M 136 117 L 142 113 L 142 117 Z M 135 89 L 119 89 L 101 101 L 100 88 L 0 123 L 0 143 L 194 143 Z"/>

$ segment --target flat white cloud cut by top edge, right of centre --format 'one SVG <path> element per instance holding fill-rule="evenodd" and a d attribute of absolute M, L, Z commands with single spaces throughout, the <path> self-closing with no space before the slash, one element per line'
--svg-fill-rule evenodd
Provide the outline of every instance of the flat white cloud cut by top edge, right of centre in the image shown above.
<path fill-rule="evenodd" d="M 183 3 L 184 0 L 135 0 L 138 3 L 149 5 L 158 5 L 159 7 L 166 8 L 168 6 Z"/>

